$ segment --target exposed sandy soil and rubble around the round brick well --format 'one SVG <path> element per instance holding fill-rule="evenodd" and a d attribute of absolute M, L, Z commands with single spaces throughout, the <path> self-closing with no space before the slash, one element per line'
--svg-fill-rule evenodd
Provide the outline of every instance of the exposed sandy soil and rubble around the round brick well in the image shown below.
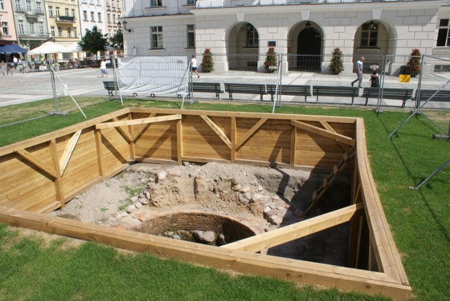
<path fill-rule="evenodd" d="M 137 163 L 51 214 L 132 229 L 143 214 L 200 210 L 232 217 L 264 232 L 348 205 L 349 179 L 339 177 L 314 210 L 303 216 L 323 177 L 248 165 Z M 148 204 L 141 206 L 141 202 Z M 139 209 L 133 209 L 134 205 Z M 271 248 L 267 254 L 346 266 L 348 228 L 342 224 Z"/>

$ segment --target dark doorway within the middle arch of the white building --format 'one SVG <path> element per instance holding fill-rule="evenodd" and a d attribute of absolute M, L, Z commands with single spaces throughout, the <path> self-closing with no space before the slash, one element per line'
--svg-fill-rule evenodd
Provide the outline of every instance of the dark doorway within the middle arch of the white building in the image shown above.
<path fill-rule="evenodd" d="M 297 38 L 297 69 L 316 72 L 321 70 L 322 37 L 318 30 L 304 29 Z"/>

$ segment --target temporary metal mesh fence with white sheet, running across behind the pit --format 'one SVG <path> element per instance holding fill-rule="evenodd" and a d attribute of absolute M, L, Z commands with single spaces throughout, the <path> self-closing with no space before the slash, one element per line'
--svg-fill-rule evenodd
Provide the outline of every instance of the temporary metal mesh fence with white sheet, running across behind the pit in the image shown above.
<path fill-rule="evenodd" d="M 271 61 L 276 63 L 268 65 L 267 56 L 257 53 L 214 54 L 207 56 L 213 62 L 210 72 L 203 72 L 203 54 L 195 57 L 198 75 L 191 70 L 191 54 L 161 56 L 160 60 L 155 56 L 153 59 L 108 56 L 60 62 L 22 62 L 10 68 L 2 65 L 0 108 L 19 103 L 33 103 L 30 105 L 33 107 L 39 103 L 36 104 L 37 114 L 42 115 L 43 112 L 77 110 L 84 103 L 120 97 L 215 99 L 274 105 L 353 105 L 376 110 L 413 110 L 423 105 L 423 112 L 430 110 L 430 115 L 431 111 L 440 110 L 433 114 L 439 115 L 440 127 L 449 127 L 446 113 L 450 110 L 448 58 L 365 55 L 363 88 L 359 89 L 358 84 L 352 87 L 356 79 L 355 63 L 359 59 L 353 56 L 340 56 L 342 70 L 338 75 L 332 74 L 331 55 L 274 54 Z M 101 72 L 101 60 L 107 63 L 107 74 Z M 380 87 L 371 87 L 369 79 L 373 67 L 378 72 Z M 179 72 L 174 75 L 174 70 Z M 110 82 L 109 89 L 105 82 Z M 211 89 L 212 85 L 217 86 L 215 91 Z M 302 87 L 304 91 L 288 93 L 294 86 Z M 8 120 L 2 120 L 0 126 L 2 124 L 8 124 Z"/>

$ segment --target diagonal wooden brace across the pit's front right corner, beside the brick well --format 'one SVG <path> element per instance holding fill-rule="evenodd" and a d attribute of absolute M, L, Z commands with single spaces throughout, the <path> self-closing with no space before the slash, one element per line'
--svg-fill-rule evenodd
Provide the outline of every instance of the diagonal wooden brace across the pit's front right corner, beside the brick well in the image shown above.
<path fill-rule="evenodd" d="M 348 222 L 353 217 L 354 213 L 357 210 L 363 209 L 363 207 L 364 206 L 361 203 L 350 205 L 333 212 L 322 214 L 319 217 L 306 219 L 296 224 L 290 224 L 289 226 L 283 226 L 282 228 L 262 233 L 257 236 L 251 236 L 241 241 L 222 245 L 221 248 L 259 252 L 260 250 L 281 245 L 288 241 L 294 241 L 297 238 L 302 238 L 309 234 Z"/>

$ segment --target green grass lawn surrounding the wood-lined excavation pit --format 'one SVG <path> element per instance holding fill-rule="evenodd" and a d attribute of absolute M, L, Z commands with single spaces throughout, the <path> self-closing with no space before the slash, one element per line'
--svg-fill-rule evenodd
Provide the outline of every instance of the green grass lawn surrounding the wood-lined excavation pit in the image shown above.
<path fill-rule="evenodd" d="M 171 101 L 125 101 L 126 106 L 179 108 Z M 89 118 L 122 108 L 107 101 L 84 108 Z M 271 113 L 271 105 L 195 103 L 195 110 Z M 11 108 L 12 110 L 12 108 Z M 447 300 L 450 287 L 450 167 L 420 190 L 410 190 L 449 160 L 450 141 L 432 139 L 437 127 L 416 116 L 378 114 L 356 108 L 283 105 L 276 113 L 364 117 L 373 177 L 417 300 Z M 0 128 L 0 146 L 84 121 L 77 111 Z M 442 134 L 442 133 L 439 133 Z M 146 254 L 84 243 L 67 248 L 67 239 L 50 243 L 18 236 L 0 226 L 0 300 L 372 300 L 337 290 L 299 288 L 293 283 L 253 276 L 230 276 Z M 383 298 L 373 298 L 383 300 Z"/>

